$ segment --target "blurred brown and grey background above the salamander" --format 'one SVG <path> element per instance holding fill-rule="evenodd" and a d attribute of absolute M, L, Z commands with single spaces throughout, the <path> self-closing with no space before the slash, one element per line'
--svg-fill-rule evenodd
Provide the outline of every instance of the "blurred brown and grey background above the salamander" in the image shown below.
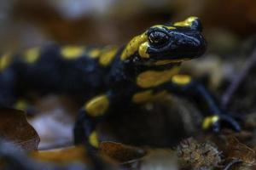
<path fill-rule="evenodd" d="M 218 42 L 218 48 L 230 49 L 256 31 L 254 0 L 1 0 L 0 49 L 124 44 L 148 26 L 189 15 L 201 18 L 210 46 Z"/>

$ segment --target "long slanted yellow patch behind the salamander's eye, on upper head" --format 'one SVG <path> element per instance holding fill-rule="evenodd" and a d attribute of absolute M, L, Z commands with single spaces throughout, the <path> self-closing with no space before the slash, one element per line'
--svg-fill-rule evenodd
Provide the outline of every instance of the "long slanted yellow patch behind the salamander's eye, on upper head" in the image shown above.
<path fill-rule="evenodd" d="M 145 32 L 137 37 L 133 37 L 123 50 L 123 53 L 121 54 L 121 60 L 128 59 L 132 54 L 135 54 L 140 45 L 147 41 L 148 37 Z"/>

